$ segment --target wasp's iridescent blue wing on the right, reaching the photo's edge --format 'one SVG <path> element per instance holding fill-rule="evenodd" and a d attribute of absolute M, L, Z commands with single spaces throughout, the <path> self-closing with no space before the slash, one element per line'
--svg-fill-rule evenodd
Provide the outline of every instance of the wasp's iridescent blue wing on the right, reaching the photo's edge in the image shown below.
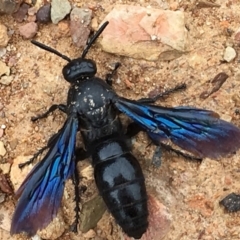
<path fill-rule="evenodd" d="M 118 98 L 115 106 L 139 124 L 154 143 L 170 139 L 199 157 L 217 159 L 240 148 L 240 129 L 212 111 L 164 108 Z"/>

